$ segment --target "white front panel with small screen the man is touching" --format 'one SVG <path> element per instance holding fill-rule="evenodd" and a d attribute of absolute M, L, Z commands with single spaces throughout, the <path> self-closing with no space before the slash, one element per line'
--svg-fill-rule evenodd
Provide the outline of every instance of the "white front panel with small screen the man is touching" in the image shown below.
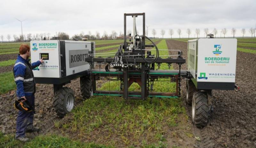
<path fill-rule="evenodd" d="M 30 41 L 31 63 L 44 57 L 44 63 L 33 70 L 35 77 L 60 78 L 60 42 Z"/>

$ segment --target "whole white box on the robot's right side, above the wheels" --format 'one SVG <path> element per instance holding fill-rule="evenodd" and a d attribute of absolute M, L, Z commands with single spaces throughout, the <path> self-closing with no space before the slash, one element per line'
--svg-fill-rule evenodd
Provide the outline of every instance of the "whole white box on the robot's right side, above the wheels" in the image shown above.
<path fill-rule="evenodd" d="M 234 89 L 236 47 L 236 39 L 188 41 L 188 71 L 197 89 Z"/>

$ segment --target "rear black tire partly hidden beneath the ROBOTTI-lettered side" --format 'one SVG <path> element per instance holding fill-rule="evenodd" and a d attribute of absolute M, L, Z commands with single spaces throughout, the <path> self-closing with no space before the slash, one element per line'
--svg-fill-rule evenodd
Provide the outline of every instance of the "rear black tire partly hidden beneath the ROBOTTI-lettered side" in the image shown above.
<path fill-rule="evenodd" d="M 90 76 L 80 77 L 80 91 L 84 100 L 92 96 L 92 81 Z"/>

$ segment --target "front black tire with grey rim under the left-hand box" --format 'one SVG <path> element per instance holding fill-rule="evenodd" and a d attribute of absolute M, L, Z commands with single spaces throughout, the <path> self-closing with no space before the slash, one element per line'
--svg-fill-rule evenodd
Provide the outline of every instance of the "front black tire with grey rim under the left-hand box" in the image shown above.
<path fill-rule="evenodd" d="M 73 90 L 68 87 L 62 87 L 56 90 L 54 94 L 53 106 L 59 117 L 64 117 L 71 112 L 74 107 L 75 97 Z"/>

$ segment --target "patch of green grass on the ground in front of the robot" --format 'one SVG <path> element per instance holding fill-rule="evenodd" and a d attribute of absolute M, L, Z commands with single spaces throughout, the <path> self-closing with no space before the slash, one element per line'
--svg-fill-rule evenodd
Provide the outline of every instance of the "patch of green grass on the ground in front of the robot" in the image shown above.
<path fill-rule="evenodd" d="M 180 113 L 185 113 L 181 99 L 130 100 L 127 104 L 120 97 L 97 96 L 74 108 L 70 120 L 55 127 L 81 137 L 94 135 L 98 141 L 113 140 L 113 144 L 157 143 L 163 140 L 167 127 L 177 126 Z M 109 136 L 101 136 L 104 133 Z"/>

